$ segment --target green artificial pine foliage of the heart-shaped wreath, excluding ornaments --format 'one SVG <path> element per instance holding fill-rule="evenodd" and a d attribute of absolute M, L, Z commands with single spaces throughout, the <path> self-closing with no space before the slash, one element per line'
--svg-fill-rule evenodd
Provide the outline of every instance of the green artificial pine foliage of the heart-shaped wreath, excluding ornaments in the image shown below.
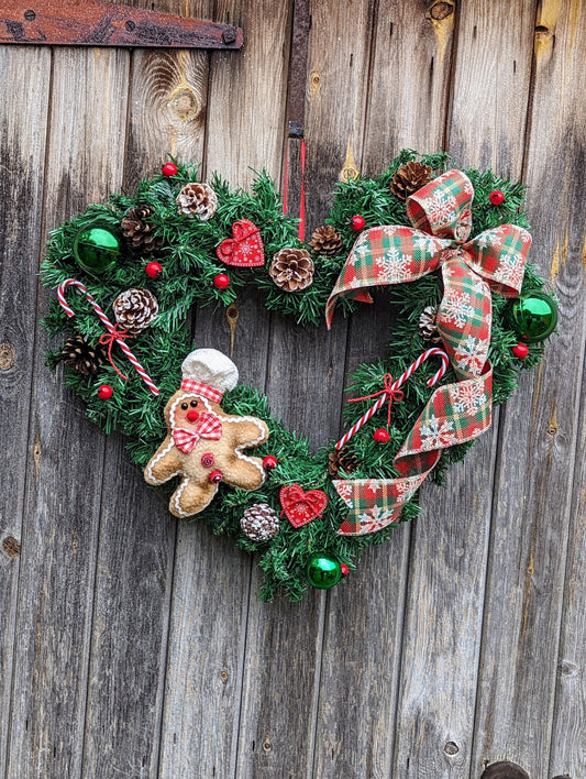
<path fill-rule="evenodd" d="M 45 286 L 56 288 L 66 278 L 78 278 L 107 311 L 114 298 L 130 287 L 150 289 L 159 304 L 158 317 L 148 329 L 133 339 L 131 348 L 159 387 L 161 395 L 155 398 L 151 394 L 115 348 L 114 359 L 128 374 L 128 382 L 122 381 L 109 364 L 102 366 L 95 376 L 84 376 L 69 369 L 65 371 L 66 385 L 85 401 L 88 417 L 106 432 L 122 432 L 132 460 L 144 468 L 167 432 L 163 408 L 167 398 L 179 386 L 183 360 L 194 349 L 186 321 L 191 306 L 228 306 L 236 299 L 239 292 L 248 285 L 261 290 L 268 310 L 279 311 L 302 325 L 317 326 L 322 321 L 325 301 L 356 239 L 356 233 L 350 227 L 350 218 L 356 213 L 362 215 L 366 228 L 377 224 L 409 224 L 405 204 L 392 195 L 389 184 L 400 165 L 416 158 L 430 165 L 435 174 L 445 171 L 449 164 L 449 157 L 444 153 L 419 157 L 414 152 L 406 150 L 380 176 L 361 176 L 336 185 L 330 216 L 325 221 L 342 235 L 344 246 L 340 256 L 333 259 L 313 256 L 314 279 L 302 293 L 280 290 L 267 272 L 268 262 L 275 252 L 285 246 L 298 248 L 303 244 L 297 237 L 296 220 L 283 215 L 280 196 L 264 172 L 257 176 L 251 194 L 240 189 L 231 190 L 224 180 L 213 175 L 211 186 L 218 195 L 218 210 L 209 221 L 201 221 L 199 218 L 187 219 L 178 212 L 175 198 L 181 187 L 197 180 L 198 173 L 198 168 L 192 165 L 179 165 L 178 173 L 173 178 L 156 175 L 152 179 L 145 179 L 133 196 L 114 195 L 109 204 L 91 205 L 85 213 L 62 224 L 51 235 L 46 259 L 42 265 L 41 276 Z M 522 211 L 524 187 L 520 183 L 505 180 L 491 171 L 479 173 L 466 169 L 465 173 L 475 189 L 473 235 L 504 222 L 529 227 Z M 488 200 L 488 195 L 494 189 L 502 190 L 506 196 L 499 207 L 491 206 Z M 148 222 L 154 224 L 156 234 L 163 239 L 162 249 L 156 255 L 164 267 L 159 278 L 151 279 L 145 275 L 145 265 L 152 257 L 141 256 L 132 250 L 130 242 L 124 244 L 123 255 L 115 267 L 103 275 L 93 276 L 77 265 L 73 243 L 80 230 L 92 224 L 96 219 L 111 226 L 113 230 L 119 230 L 120 222 L 130 208 L 145 205 L 153 211 Z M 267 265 L 254 268 L 230 267 L 231 284 L 225 290 L 220 290 L 213 285 L 213 278 L 226 268 L 218 261 L 215 246 L 232 234 L 232 223 L 239 219 L 250 219 L 259 228 Z M 306 248 L 309 249 L 308 245 Z M 542 288 L 543 279 L 529 265 L 526 270 L 523 290 Z M 353 395 L 365 396 L 379 391 L 384 373 L 399 375 L 429 347 L 429 342 L 423 341 L 418 333 L 419 317 L 425 306 L 436 306 L 441 295 L 441 279 L 438 274 L 390 287 L 391 301 L 398 311 L 398 321 L 389 343 L 390 356 L 360 366 L 352 376 L 350 390 Z M 75 317 L 68 319 L 53 299 L 44 320 L 49 334 L 67 337 L 80 333 L 86 341 L 95 344 L 104 332 L 99 319 L 82 295 L 71 290 L 67 299 Z M 529 355 L 524 360 L 512 356 L 511 349 L 518 337 L 507 322 L 506 312 L 509 305 L 505 298 L 493 298 L 494 320 L 489 359 L 494 366 L 494 405 L 502 403 L 512 393 L 517 386 L 519 371 L 534 367 L 542 355 L 542 344 L 535 343 L 529 344 Z M 347 314 L 353 304 L 342 298 L 338 308 L 340 312 Z M 60 358 L 62 344 L 47 353 L 47 364 L 55 369 Z M 374 430 L 380 426 L 380 419 L 377 420 L 376 416 L 354 436 L 349 446 L 358 462 L 358 469 L 352 473 L 353 479 L 389 479 L 397 475 L 392 468 L 394 457 L 431 395 L 432 391 L 425 382 L 435 370 L 434 363 L 425 363 L 402 387 L 405 399 L 392 407 L 390 441 L 387 446 L 382 447 L 373 439 Z M 450 369 L 442 383 L 453 381 L 455 376 Z M 103 383 L 114 388 L 114 394 L 108 402 L 100 401 L 96 395 L 98 386 Z M 365 401 L 347 407 L 346 421 L 355 421 L 371 404 L 372 401 Z M 308 588 L 305 571 L 311 555 L 325 553 L 353 570 L 364 547 L 383 542 L 390 536 L 394 526 L 368 536 L 338 535 L 341 517 L 346 511 L 328 474 L 328 456 L 333 443 L 311 454 L 308 441 L 297 434 L 289 432 L 283 423 L 270 414 L 266 397 L 253 388 L 239 385 L 226 394 L 222 406 L 229 414 L 252 415 L 267 423 L 270 430 L 269 440 L 254 453 L 259 457 L 273 454 L 278 464 L 268 475 L 264 486 L 254 493 L 221 484 L 218 496 L 195 519 L 206 519 L 214 533 L 236 536 L 236 546 L 240 549 L 258 553 L 258 564 L 265 572 L 261 593 L 263 600 L 270 601 L 279 589 L 290 600 L 300 600 Z M 472 442 L 468 442 L 447 449 L 433 471 L 433 479 L 441 482 L 445 469 L 452 462 L 461 460 L 471 446 Z M 240 528 L 244 511 L 255 503 L 265 502 L 279 513 L 279 489 L 284 484 L 292 483 L 299 484 L 303 490 L 323 490 L 328 494 L 329 503 L 323 517 L 298 529 L 283 519 L 279 534 L 269 541 L 255 542 L 247 538 Z M 418 512 L 416 497 L 405 506 L 401 520 L 412 519 Z"/>

